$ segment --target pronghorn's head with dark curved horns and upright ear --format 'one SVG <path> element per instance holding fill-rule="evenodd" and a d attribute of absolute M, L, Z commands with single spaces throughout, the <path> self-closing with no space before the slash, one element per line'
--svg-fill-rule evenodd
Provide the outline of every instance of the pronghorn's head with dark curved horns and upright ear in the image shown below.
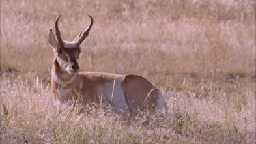
<path fill-rule="evenodd" d="M 79 45 L 85 40 L 85 38 L 89 35 L 89 31 L 94 23 L 91 16 L 91 24 L 82 35 L 82 32 L 72 41 L 66 42 L 61 38 L 61 33 L 58 27 L 58 21 L 61 15 L 56 18 L 55 21 L 55 30 L 57 40 L 53 35 L 52 29 L 50 29 L 48 33 L 48 43 L 53 48 L 55 59 L 59 63 L 61 70 L 68 72 L 69 74 L 76 74 L 79 71 L 79 65 L 77 63 L 77 59 L 79 59 L 80 47 Z"/>

